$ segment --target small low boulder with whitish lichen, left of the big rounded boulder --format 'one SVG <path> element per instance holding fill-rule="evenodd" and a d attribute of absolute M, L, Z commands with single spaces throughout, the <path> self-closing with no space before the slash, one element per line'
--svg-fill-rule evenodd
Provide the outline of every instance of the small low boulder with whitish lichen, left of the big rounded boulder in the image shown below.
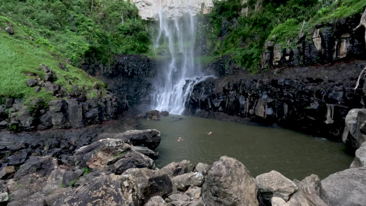
<path fill-rule="evenodd" d="M 199 172 L 190 172 L 173 177 L 173 191 L 186 191 L 189 187 L 201 187 L 205 177 Z"/>

